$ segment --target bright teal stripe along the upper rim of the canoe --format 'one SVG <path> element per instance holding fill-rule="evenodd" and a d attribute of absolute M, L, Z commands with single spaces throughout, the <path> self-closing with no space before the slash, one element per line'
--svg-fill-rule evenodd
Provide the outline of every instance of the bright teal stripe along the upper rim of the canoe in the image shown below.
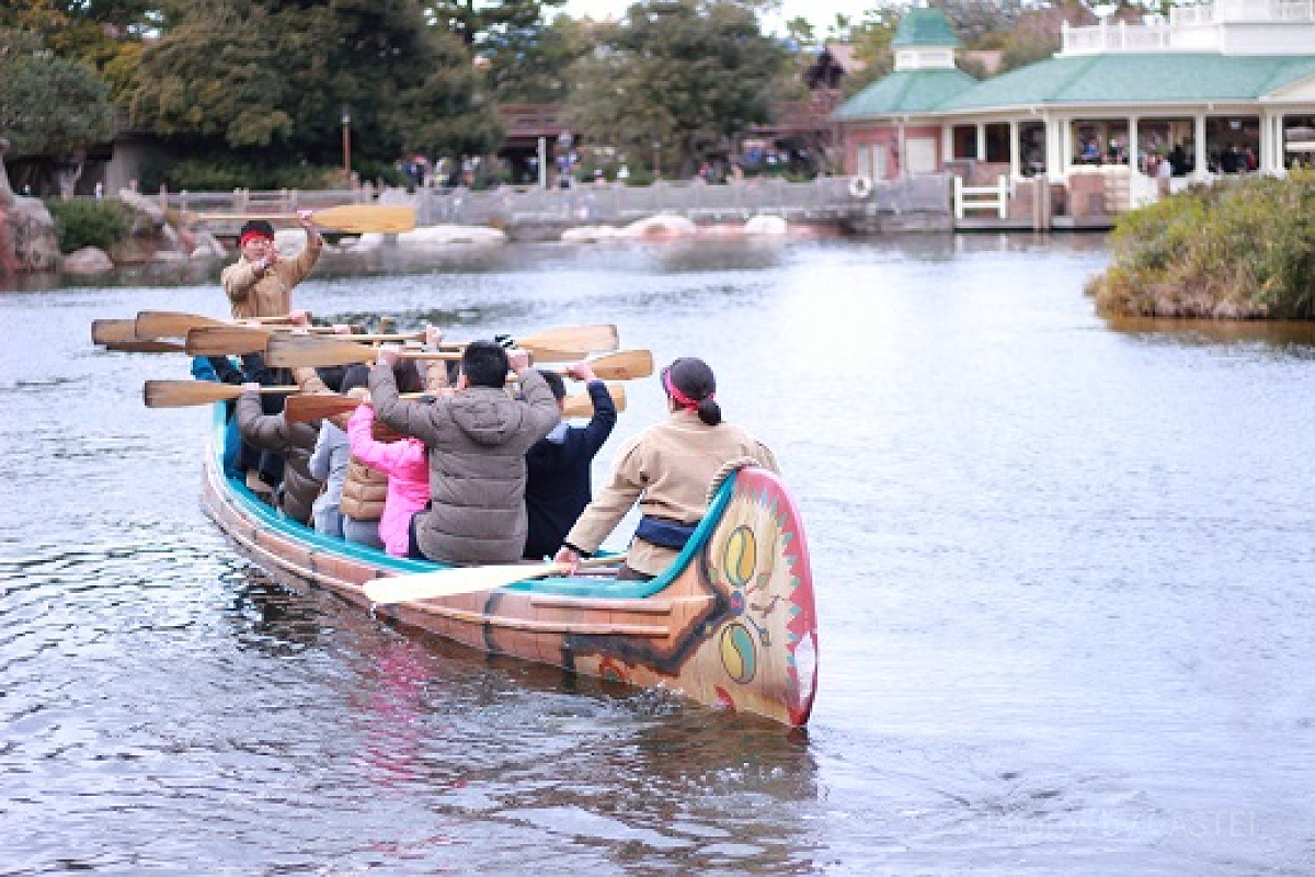
<path fill-rule="evenodd" d="M 210 452 L 216 458 L 214 465 L 218 472 L 224 471 L 222 454 L 224 438 L 226 433 L 224 408 L 224 402 L 217 402 L 214 405 L 213 430 L 210 438 Z M 694 529 L 693 535 L 690 535 L 689 542 L 685 543 L 685 547 L 681 550 L 680 555 L 677 555 L 676 563 L 673 563 L 667 572 L 656 579 L 650 581 L 598 581 L 592 577 L 552 577 L 518 581 L 513 585 L 508 585 L 508 590 L 585 597 L 594 600 L 642 600 L 661 592 L 671 585 L 676 576 L 688 564 L 693 563 L 694 556 L 702 551 L 704 544 L 707 542 L 713 529 L 721 519 L 726 505 L 730 502 L 731 493 L 735 489 L 736 475 L 738 473 L 731 473 L 730 477 L 722 483 L 721 488 L 717 490 L 717 496 L 713 497 L 713 502 L 707 508 L 707 514 L 704 515 L 704 519 L 700 522 L 698 527 Z M 352 560 L 359 560 L 362 563 L 379 567 L 380 569 L 388 569 L 402 575 L 413 572 L 434 572 L 447 568 L 444 564 L 438 564 L 431 560 L 394 557 L 380 548 L 372 548 L 354 542 L 345 542 L 334 536 L 326 536 L 322 533 L 316 533 L 312 527 L 291 521 L 262 502 L 245 483 L 237 479 L 225 480 L 227 481 L 229 492 L 233 494 L 238 505 L 242 506 L 246 514 L 256 519 L 262 527 L 279 533 L 289 539 L 308 543 L 317 551 L 351 557 Z"/>

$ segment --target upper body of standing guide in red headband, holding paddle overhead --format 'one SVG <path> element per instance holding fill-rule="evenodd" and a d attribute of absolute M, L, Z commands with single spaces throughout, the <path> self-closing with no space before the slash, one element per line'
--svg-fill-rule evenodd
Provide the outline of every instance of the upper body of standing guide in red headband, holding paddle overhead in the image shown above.
<path fill-rule="evenodd" d="M 323 238 L 310 221 L 310 210 L 299 212 L 297 221 L 306 230 L 306 247 L 296 259 L 279 258 L 274 226 L 264 220 L 251 220 L 242 226 L 238 234 L 241 255 L 220 275 L 234 320 L 292 313 L 292 288 L 306 279 L 323 250 Z"/>

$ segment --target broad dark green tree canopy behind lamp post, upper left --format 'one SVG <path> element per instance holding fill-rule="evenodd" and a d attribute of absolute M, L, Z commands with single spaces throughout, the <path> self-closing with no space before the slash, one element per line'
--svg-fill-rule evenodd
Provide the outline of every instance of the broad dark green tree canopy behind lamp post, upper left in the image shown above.
<path fill-rule="evenodd" d="M 326 166 L 345 110 L 352 155 L 376 163 L 409 147 L 480 151 L 498 131 L 468 51 L 416 0 L 197 4 L 146 51 L 132 109 L 163 134 Z"/>

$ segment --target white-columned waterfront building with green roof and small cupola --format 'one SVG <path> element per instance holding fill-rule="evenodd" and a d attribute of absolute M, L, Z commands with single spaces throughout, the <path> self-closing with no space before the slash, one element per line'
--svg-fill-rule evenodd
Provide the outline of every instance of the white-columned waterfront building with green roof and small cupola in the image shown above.
<path fill-rule="evenodd" d="M 913 8 L 896 67 L 842 104 L 847 172 L 976 181 L 1122 172 L 1132 201 L 1216 174 L 1315 158 L 1315 4 L 1215 0 L 1168 20 L 1065 26 L 1053 58 L 978 82 L 939 9 Z"/>

